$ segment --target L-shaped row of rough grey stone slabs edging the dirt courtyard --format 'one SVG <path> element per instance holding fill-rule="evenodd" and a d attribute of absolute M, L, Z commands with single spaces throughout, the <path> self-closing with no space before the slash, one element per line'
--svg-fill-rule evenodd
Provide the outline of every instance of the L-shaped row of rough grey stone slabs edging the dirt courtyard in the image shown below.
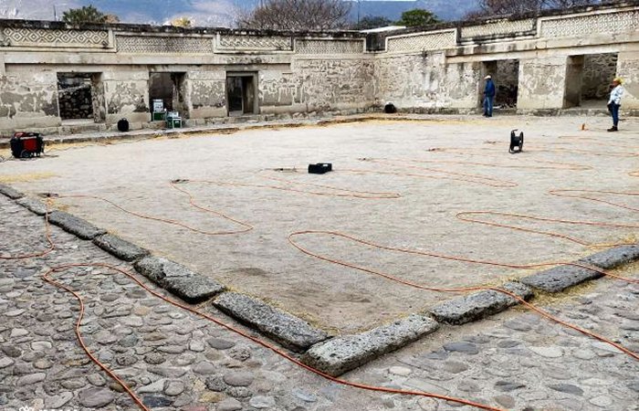
<path fill-rule="evenodd" d="M 0 184 L 0 194 L 16 200 L 16 204 L 23 205 L 38 216 L 44 216 L 47 212 L 44 204 L 26 197 L 9 185 Z M 217 297 L 212 301 L 217 309 L 225 311 L 237 321 L 248 324 L 289 349 L 303 353 L 301 361 L 304 364 L 334 376 L 351 371 L 435 332 L 439 328 L 437 321 L 461 325 L 519 304 L 518 300 L 496 290 L 484 290 L 446 300 L 430 309 L 430 312 L 414 313 L 367 332 L 330 338 L 307 321 L 280 311 L 264 301 L 226 291 L 225 286 L 214 279 L 195 273 L 166 258 L 151 256 L 148 250 L 111 236 L 106 230 L 95 227 L 79 217 L 55 210 L 49 211 L 48 218 L 53 224 L 80 238 L 93 240 L 97 246 L 113 256 L 133 261 L 133 266 L 143 276 L 187 302 L 201 302 Z M 639 245 L 633 245 L 609 248 L 574 263 L 599 269 L 615 269 L 637 260 Z M 556 293 L 600 277 L 602 274 L 593 269 L 558 266 L 519 279 L 519 282 L 507 282 L 501 288 L 529 300 L 535 296 L 534 290 Z"/>

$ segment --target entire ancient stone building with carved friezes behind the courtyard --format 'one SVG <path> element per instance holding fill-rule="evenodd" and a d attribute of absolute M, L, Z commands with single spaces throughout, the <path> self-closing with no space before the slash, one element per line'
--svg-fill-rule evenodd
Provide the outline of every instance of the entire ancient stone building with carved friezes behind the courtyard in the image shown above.
<path fill-rule="evenodd" d="M 486 74 L 523 113 L 604 107 L 619 76 L 637 112 L 639 1 L 368 35 L 3 20 L 0 133 L 152 127 L 154 103 L 194 125 L 387 101 L 472 112 Z"/>

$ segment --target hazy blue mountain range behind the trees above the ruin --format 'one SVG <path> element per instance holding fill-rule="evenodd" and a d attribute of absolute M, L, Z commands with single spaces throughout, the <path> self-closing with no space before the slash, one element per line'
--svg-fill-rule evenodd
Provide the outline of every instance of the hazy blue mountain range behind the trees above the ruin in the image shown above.
<path fill-rule="evenodd" d="M 424 8 L 443 20 L 456 20 L 477 7 L 478 0 L 345 0 L 351 20 L 383 16 L 397 20 L 404 11 Z M 0 0 L 0 18 L 54 20 L 69 8 L 94 5 L 120 17 L 122 23 L 162 25 L 188 16 L 195 26 L 234 26 L 236 16 L 252 10 L 259 0 Z"/>

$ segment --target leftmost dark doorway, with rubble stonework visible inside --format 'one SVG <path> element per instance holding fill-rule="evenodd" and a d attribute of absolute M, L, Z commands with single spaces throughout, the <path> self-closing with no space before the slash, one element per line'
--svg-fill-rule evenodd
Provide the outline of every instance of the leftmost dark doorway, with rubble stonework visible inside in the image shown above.
<path fill-rule="evenodd" d="M 95 88 L 101 84 L 100 74 L 58 73 L 58 107 L 60 118 L 65 120 L 102 121 L 98 107 L 100 93 Z"/>

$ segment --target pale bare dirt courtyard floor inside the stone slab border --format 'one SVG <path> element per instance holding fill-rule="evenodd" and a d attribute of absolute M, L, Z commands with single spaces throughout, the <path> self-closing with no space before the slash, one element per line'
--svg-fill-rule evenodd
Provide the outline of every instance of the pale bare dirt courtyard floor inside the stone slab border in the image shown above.
<path fill-rule="evenodd" d="M 58 206 L 99 227 L 332 332 L 368 329 L 454 295 L 414 290 L 309 257 L 289 244 L 291 233 L 340 232 L 384 247 L 516 265 L 569 261 L 602 248 L 462 221 L 456 215 L 492 211 L 634 225 L 589 227 L 473 216 L 556 232 L 585 244 L 636 241 L 639 177 L 631 173 L 639 171 L 639 121 L 623 121 L 621 132 L 608 133 L 607 118 L 422 120 L 77 147 L 51 151 L 40 159 L 0 163 L 0 182 L 31 195 L 96 195 L 136 213 L 179 220 L 207 231 L 195 233 L 131 216 L 99 200 L 58 200 Z M 581 131 L 584 123 L 586 130 Z M 512 129 L 525 133 L 523 153 L 508 153 Z M 309 163 L 320 162 L 332 163 L 334 171 L 306 173 Z M 177 186 L 191 193 L 196 204 L 254 228 L 210 235 L 242 231 L 246 226 L 195 209 L 187 195 L 169 184 L 175 179 L 190 180 Z M 200 182 L 204 180 L 215 183 Z M 359 193 L 349 196 L 351 191 L 299 183 Z M 635 195 L 564 192 L 629 209 L 550 193 L 566 189 L 634 191 Z M 531 271 L 400 253 L 337 235 L 307 234 L 294 239 L 300 247 L 326 258 L 435 288 L 499 284 Z"/>

